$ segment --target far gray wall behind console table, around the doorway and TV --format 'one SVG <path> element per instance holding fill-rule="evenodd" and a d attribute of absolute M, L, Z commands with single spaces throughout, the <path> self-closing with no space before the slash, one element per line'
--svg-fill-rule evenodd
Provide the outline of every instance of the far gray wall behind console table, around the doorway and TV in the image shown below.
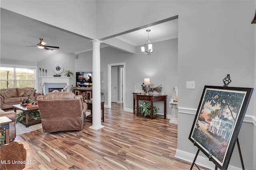
<path fill-rule="evenodd" d="M 106 103 L 108 102 L 108 64 L 122 62 L 126 63 L 126 108 L 124 109 L 132 110 L 134 83 L 140 86 L 144 82 L 144 78 L 147 77 L 150 78 L 150 83 L 154 84 L 155 87 L 164 83 L 162 87 L 168 95 L 167 101 L 170 101 L 172 89 L 178 83 L 178 39 L 152 44 L 154 53 L 151 55 L 141 53 L 140 46 L 136 47 L 135 54 L 126 53 L 112 47 L 100 49 L 100 76 L 101 81 L 104 82 L 101 83 L 101 89 L 105 95 Z M 80 53 L 78 56 L 79 70 L 89 71 L 89 68 L 92 68 L 92 62 L 88 62 L 92 60 L 92 51 Z M 162 102 L 155 102 L 155 106 L 160 108 L 159 113 L 163 113 Z M 168 104 L 166 112 L 171 115 Z"/>

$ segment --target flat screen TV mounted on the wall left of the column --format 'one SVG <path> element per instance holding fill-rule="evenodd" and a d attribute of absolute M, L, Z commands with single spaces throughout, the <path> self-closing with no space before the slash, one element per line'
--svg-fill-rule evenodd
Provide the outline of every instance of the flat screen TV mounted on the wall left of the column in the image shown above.
<path fill-rule="evenodd" d="M 92 71 L 76 72 L 76 87 L 92 87 Z"/>

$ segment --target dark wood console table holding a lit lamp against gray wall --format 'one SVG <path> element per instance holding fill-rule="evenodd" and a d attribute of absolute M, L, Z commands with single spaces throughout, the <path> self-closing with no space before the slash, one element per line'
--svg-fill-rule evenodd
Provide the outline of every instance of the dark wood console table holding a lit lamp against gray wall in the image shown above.
<path fill-rule="evenodd" d="M 139 116 L 138 108 L 139 108 L 139 100 L 143 101 L 150 101 L 151 105 L 151 114 L 150 114 L 150 119 L 153 119 L 153 101 L 164 101 L 164 119 L 166 119 L 166 97 L 167 95 L 155 95 L 155 94 L 150 94 L 150 95 L 145 95 L 145 94 L 133 94 L 133 113 L 135 113 L 135 99 L 137 101 L 137 111 L 136 115 L 137 117 Z M 162 116 L 162 115 L 160 115 Z"/>

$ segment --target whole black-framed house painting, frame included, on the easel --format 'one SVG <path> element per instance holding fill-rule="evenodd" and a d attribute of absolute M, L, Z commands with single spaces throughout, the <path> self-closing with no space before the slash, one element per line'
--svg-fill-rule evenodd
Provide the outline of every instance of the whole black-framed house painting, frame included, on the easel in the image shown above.
<path fill-rule="evenodd" d="M 253 88 L 205 86 L 189 140 L 227 169 Z"/>

